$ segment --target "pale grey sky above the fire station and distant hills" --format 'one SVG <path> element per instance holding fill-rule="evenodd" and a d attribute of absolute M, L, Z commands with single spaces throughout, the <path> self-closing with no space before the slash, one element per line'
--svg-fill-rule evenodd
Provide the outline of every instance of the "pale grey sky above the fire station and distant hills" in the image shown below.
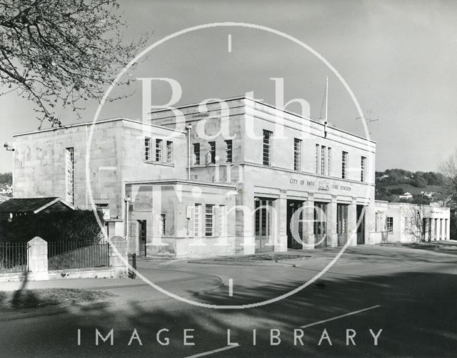
<path fill-rule="evenodd" d="M 149 34 L 149 44 L 176 31 L 216 22 L 267 26 L 303 41 L 321 54 L 350 86 L 376 141 L 376 170 L 436 171 L 457 148 L 456 1 L 179 1 L 121 0 L 126 40 Z M 228 38 L 231 35 L 231 51 Z M 337 76 L 311 52 L 268 31 L 214 27 L 164 42 L 126 76 L 179 81 L 181 104 L 240 96 L 275 104 L 275 82 L 284 79 L 285 102 L 303 98 L 311 118 L 322 116 L 328 76 L 328 121 L 365 136 L 358 111 Z M 108 85 L 106 86 L 108 87 Z M 100 119 L 141 120 L 141 81 L 116 88 L 126 99 L 105 104 Z M 169 101 L 165 82 L 154 81 L 152 104 Z M 79 121 L 92 121 L 96 101 Z M 0 143 L 36 130 L 34 106 L 12 92 L 0 96 Z M 298 106 L 287 108 L 299 111 Z M 59 109 L 63 124 L 78 121 Z M 46 128 L 46 126 L 44 126 Z M 11 171 L 13 155 L 0 148 L 0 173 Z"/>

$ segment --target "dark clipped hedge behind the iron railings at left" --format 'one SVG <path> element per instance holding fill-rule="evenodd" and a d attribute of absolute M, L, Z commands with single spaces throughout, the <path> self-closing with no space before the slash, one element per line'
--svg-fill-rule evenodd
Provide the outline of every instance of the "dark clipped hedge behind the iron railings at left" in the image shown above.
<path fill-rule="evenodd" d="M 98 212 L 103 224 L 103 214 Z M 101 239 L 101 229 L 91 210 L 49 212 L 14 217 L 11 222 L 0 222 L 0 241 L 28 242 L 41 237 L 47 242 L 69 240 L 96 243 Z"/>

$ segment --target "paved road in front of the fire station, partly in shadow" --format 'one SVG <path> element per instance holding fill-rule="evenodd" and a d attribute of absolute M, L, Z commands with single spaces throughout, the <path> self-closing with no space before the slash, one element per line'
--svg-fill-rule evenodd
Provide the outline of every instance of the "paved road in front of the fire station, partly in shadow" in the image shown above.
<path fill-rule="evenodd" d="M 164 261 L 146 261 L 139 266 L 141 272 L 149 272 L 149 277 L 154 277 L 154 272 L 158 272 L 158 277 L 164 272 L 169 272 L 170 277 L 174 277 L 174 272 L 186 272 L 196 277 L 196 282 L 207 274 L 221 277 L 226 283 L 232 279 L 232 297 L 228 287 L 204 292 L 200 286 L 194 289 L 186 280 L 171 280 L 165 285 L 171 292 L 193 297 L 199 302 L 248 304 L 290 292 L 318 274 L 337 252 L 336 249 L 321 250 L 313 257 L 299 261 L 296 267 Z M 457 349 L 456 262 L 454 254 L 421 249 L 350 248 L 310 287 L 266 306 L 206 309 L 164 296 L 156 302 L 131 300 L 124 306 L 72 308 L 64 314 L 1 322 L 0 355 L 454 356 Z M 210 285 L 211 281 L 208 283 Z M 119 287 L 99 289 L 116 292 Z M 151 288 L 144 286 L 131 289 L 152 292 Z M 81 332 L 80 345 L 78 329 Z M 96 345 L 96 329 L 104 336 L 113 329 L 114 345 L 110 345 L 110 338 L 106 342 L 99 339 L 99 345 Z M 134 329 L 142 345 L 139 339 L 131 339 Z M 185 332 L 185 329 L 194 331 Z M 238 345 L 227 345 L 227 329 L 230 329 L 231 342 Z M 281 342 L 274 337 L 271 341 L 271 334 L 279 334 Z M 194 336 L 187 338 L 187 343 L 193 342 L 194 345 L 184 345 L 185 335 Z M 377 345 L 373 338 L 376 335 Z M 162 345 L 166 342 L 169 344 Z"/>

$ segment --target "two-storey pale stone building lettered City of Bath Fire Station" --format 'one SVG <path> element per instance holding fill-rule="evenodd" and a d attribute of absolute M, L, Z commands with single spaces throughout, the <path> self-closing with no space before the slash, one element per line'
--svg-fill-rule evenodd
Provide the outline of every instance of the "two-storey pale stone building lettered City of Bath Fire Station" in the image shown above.
<path fill-rule="evenodd" d="M 382 241 L 375 142 L 246 96 L 16 134 L 13 146 L 15 197 L 96 207 L 131 253 Z"/>

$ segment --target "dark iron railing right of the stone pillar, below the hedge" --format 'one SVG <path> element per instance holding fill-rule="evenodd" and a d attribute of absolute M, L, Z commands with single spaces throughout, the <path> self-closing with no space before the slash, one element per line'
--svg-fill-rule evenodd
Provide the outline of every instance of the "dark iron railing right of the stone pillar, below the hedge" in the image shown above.
<path fill-rule="evenodd" d="M 48 269 L 82 269 L 109 266 L 107 242 L 55 241 L 48 242 Z"/>

